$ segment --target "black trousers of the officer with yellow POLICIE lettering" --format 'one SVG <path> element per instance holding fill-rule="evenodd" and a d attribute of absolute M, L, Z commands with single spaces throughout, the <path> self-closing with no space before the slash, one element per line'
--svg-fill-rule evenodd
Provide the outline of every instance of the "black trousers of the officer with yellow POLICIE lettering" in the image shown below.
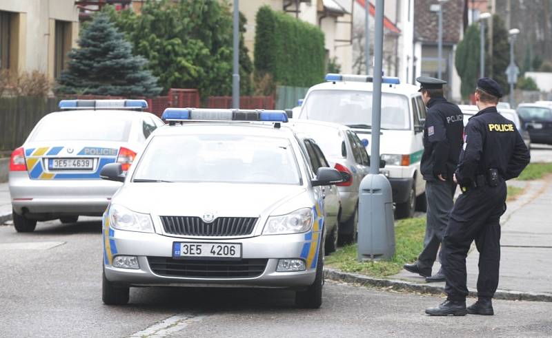
<path fill-rule="evenodd" d="M 466 256 L 473 240 L 480 253 L 477 296 L 490 299 L 495 294 L 500 264 L 500 216 L 506 211 L 505 201 L 504 181 L 497 187 L 483 186 L 458 196 L 441 248 L 449 300 L 466 300 Z"/>

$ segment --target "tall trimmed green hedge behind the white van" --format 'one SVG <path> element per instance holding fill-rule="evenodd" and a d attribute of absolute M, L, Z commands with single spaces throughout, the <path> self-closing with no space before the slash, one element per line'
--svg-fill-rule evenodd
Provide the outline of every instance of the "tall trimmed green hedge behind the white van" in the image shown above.
<path fill-rule="evenodd" d="M 268 6 L 256 17 L 255 71 L 279 85 L 310 87 L 324 80 L 324 33 Z"/>

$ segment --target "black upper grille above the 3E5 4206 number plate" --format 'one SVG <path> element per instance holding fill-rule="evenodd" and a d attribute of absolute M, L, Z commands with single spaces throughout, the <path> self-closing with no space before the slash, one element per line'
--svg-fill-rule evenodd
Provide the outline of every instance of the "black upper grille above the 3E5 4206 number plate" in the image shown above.
<path fill-rule="evenodd" d="M 166 233 L 187 236 L 243 236 L 253 233 L 257 218 L 252 217 L 219 217 L 206 223 L 199 217 L 161 216 L 161 223 Z"/>

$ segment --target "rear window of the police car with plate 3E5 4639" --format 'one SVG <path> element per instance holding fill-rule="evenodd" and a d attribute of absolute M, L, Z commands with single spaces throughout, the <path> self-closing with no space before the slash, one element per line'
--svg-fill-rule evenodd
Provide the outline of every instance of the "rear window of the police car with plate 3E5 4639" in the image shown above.
<path fill-rule="evenodd" d="M 32 141 L 51 140 L 128 140 L 132 121 L 113 114 L 71 112 L 51 114 L 44 118 L 32 135 Z"/>

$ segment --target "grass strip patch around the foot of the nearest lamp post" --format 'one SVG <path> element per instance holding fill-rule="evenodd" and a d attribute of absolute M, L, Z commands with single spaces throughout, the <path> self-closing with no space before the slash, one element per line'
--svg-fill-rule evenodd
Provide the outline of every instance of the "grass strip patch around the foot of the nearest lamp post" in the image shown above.
<path fill-rule="evenodd" d="M 405 263 L 414 262 L 424 246 L 426 218 L 398 220 L 395 226 L 395 255 L 391 260 L 357 262 L 357 244 L 337 249 L 326 257 L 324 264 L 348 273 L 371 277 L 395 275 Z"/>

